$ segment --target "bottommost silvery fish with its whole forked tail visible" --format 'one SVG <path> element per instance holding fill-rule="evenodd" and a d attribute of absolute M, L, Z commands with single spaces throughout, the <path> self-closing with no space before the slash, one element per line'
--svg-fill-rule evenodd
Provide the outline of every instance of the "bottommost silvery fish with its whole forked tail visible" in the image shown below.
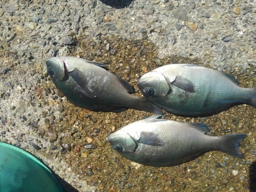
<path fill-rule="evenodd" d="M 204 123 L 159 119 L 161 116 L 130 123 L 110 134 L 108 141 L 121 156 L 147 166 L 174 166 L 209 151 L 243 158 L 239 144 L 245 134 L 209 136 L 210 129 Z"/>

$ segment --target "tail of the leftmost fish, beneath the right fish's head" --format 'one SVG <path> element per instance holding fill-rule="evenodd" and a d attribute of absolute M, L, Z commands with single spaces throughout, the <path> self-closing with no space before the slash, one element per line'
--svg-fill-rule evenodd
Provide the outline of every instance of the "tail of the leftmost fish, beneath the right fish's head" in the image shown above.
<path fill-rule="evenodd" d="M 157 114 L 157 115 L 162 115 L 163 114 L 163 112 L 159 108 L 159 106 L 157 106 L 156 104 L 154 104 L 153 102 L 151 102 L 150 100 L 148 100 L 145 97 L 140 97 L 139 105 L 137 106 L 137 109 L 141 110 L 141 111 L 154 113 L 154 114 Z"/>

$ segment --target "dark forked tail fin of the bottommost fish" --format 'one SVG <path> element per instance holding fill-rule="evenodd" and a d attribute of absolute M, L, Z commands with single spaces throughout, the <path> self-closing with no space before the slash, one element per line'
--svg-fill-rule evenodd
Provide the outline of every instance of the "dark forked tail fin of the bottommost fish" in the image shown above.
<path fill-rule="evenodd" d="M 231 134 L 220 136 L 220 139 L 222 140 L 220 151 L 233 157 L 237 157 L 240 159 L 243 158 L 243 155 L 240 153 L 239 150 L 239 144 L 246 137 L 247 135 L 245 134 Z"/>

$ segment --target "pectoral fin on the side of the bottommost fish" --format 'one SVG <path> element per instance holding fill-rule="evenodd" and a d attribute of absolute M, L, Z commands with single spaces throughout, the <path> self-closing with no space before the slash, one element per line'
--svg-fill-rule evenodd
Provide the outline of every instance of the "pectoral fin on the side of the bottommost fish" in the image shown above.
<path fill-rule="evenodd" d="M 141 132 L 140 139 L 138 140 L 138 142 L 152 146 L 163 146 L 165 144 L 164 142 L 161 141 L 159 136 L 149 132 Z"/>

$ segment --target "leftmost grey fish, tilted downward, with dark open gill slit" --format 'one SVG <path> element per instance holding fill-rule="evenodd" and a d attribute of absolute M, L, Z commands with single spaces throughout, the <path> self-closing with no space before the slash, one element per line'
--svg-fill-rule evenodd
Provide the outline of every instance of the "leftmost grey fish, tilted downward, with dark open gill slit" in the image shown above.
<path fill-rule="evenodd" d="M 47 72 L 69 101 L 91 111 L 120 113 L 129 108 L 163 114 L 145 97 L 131 95 L 133 86 L 108 71 L 103 63 L 78 57 L 50 57 Z"/>

